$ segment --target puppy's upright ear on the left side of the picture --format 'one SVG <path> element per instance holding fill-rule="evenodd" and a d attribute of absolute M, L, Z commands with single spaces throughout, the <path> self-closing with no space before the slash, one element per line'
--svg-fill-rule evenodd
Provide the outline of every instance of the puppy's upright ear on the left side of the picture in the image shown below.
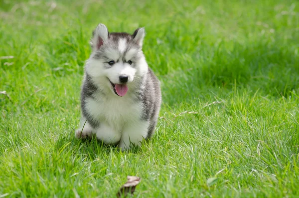
<path fill-rule="evenodd" d="M 92 39 L 90 45 L 93 50 L 98 50 L 104 42 L 108 40 L 109 32 L 107 27 L 100 23 L 97 28 L 92 32 Z"/>

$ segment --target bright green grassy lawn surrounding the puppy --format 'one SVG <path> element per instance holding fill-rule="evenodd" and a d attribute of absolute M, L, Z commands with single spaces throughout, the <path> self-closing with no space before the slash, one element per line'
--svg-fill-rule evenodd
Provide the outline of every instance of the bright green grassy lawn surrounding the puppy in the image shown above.
<path fill-rule="evenodd" d="M 0 198 L 299 197 L 299 1 L 136 2 L 0 0 Z M 145 26 L 161 81 L 129 152 L 74 138 L 99 22 Z"/>

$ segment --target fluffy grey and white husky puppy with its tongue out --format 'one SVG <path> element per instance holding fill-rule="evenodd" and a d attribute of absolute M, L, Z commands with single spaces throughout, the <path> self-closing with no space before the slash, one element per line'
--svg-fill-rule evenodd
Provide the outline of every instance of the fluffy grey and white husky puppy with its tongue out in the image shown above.
<path fill-rule="evenodd" d="M 145 29 L 131 35 L 99 24 L 91 39 L 81 87 L 77 138 L 95 135 L 122 150 L 154 133 L 161 106 L 160 82 L 142 51 Z"/>

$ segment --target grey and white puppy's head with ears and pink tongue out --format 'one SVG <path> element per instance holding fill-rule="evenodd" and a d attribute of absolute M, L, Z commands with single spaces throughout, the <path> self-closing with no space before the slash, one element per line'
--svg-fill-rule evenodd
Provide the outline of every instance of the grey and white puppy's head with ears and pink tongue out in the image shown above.
<path fill-rule="evenodd" d="M 109 88 L 118 96 L 125 96 L 130 86 L 138 83 L 148 70 L 142 52 L 144 37 L 144 28 L 136 29 L 132 35 L 109 33 L 100 23 L 90 42 L 93 51 L 86 64 L 87 74 L 100 86 Z"/>

